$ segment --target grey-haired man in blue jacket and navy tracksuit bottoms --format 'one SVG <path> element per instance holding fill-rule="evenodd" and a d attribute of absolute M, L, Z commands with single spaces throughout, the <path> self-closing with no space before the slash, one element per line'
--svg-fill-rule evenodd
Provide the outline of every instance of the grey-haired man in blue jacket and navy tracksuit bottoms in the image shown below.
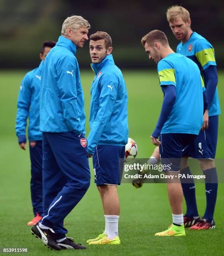
<path fill-rule="evenodd" d="M 31 229 L 45 245 L 86 249 L 66 238 L 64 218 L 90 184 L 85 138 L 84 97 L 76 49 L 88 40 L 90 24 L 70 16 L 56 46 L 45 59 L 40 92 L 40 131 L 43 132 L 43 215 Z"/>

